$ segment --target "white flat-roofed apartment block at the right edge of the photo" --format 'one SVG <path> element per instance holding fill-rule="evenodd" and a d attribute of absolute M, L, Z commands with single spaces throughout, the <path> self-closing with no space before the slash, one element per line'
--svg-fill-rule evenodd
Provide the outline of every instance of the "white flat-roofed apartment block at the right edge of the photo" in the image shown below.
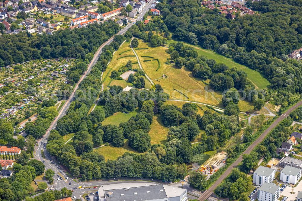
<path fill-rule="evenodd" d="M 292 183 L 295 185 L 300 178 L 301 178 L 300 168 L 295 168 L 287 165 L 283 168 L 283 170 L 280 173 L 280 180 L 283 181 L 283 183 Z"/>

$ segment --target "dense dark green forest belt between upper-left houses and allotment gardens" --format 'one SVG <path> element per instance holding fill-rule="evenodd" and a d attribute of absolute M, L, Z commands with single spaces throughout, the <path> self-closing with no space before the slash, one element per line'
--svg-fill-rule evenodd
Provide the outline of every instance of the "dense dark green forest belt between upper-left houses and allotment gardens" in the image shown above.
<path fill-rule="evenodd" d="M 81 57 L 95 53 L 98 47 L 120 30 L 112 21 L 92 24 L 84 29 L 64 29 L 53 35 L 26 32 L 0 37 L 0 66 L 22 63 L 31 59 Z"/>

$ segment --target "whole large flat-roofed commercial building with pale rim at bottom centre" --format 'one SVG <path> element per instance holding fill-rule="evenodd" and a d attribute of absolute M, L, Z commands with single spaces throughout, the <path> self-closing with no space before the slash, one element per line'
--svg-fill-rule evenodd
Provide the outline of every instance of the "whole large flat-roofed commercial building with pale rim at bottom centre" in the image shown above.
<path fill-rule="evenodd" d="M 187 201 L 187 190 L 164 184 L 118 183 L 103 185 L 99 201 Z"/>

